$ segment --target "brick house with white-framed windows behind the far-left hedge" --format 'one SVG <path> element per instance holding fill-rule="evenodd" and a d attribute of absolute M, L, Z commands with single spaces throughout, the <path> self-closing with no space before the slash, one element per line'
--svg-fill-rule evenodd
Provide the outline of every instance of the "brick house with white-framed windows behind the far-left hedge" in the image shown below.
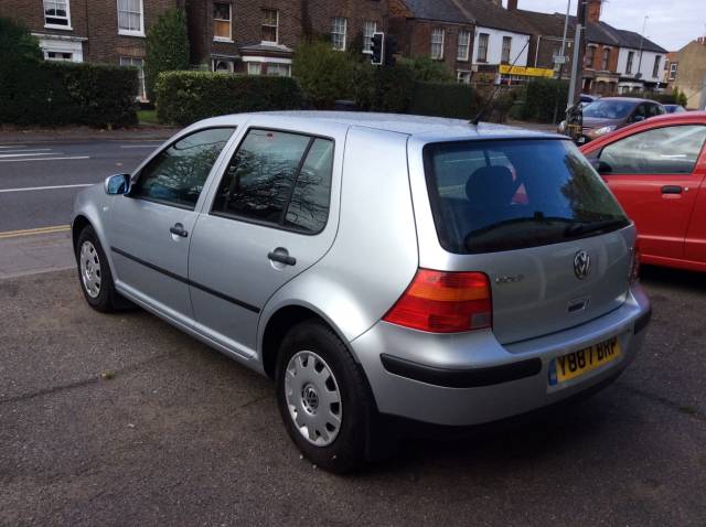
<path fill-rule="evenodd" d="M 133 65 L 142 72 L 145 34 L 184 0 L 1 0 L 0 17 L 23 21 L 52 61 Z M 141 99 L 145 75 L 140 73 Z"/>

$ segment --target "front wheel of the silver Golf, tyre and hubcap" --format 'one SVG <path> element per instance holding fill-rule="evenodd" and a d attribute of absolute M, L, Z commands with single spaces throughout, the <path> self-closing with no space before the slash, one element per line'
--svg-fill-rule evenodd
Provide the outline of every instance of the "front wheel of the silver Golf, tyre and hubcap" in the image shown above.
<path fill-rule="evenodd" d="M 135 305 L 116 291 L 108 259 L 90 225 L 86 225 L 78 235 L 76 267 L 84 298 L 96 311 L 113 313 Z"/>

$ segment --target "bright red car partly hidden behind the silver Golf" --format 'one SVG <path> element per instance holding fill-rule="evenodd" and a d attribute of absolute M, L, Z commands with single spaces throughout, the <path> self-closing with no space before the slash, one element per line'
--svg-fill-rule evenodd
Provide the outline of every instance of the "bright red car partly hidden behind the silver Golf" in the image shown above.
<path fill-rule="evenodd" d="M 706 111 L 667 114 L 581 147 L 639 233 L 643 264 L 706 271 Z"/>

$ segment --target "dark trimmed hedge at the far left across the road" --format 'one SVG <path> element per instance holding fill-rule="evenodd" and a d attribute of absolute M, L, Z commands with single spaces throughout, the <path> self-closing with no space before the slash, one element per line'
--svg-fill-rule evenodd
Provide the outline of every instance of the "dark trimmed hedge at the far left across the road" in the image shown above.
<path fill-rule="evenodd" d="M 0 64 L 0 122 L 137 123 L 137 69 L 103 64 L 6 61 Z"/>

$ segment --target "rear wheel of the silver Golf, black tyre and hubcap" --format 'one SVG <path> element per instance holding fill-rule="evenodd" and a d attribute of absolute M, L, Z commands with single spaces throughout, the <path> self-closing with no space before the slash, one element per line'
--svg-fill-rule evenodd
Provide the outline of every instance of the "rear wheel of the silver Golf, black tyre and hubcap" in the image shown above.
<path fill-rule="evenodd" d="M 339 474 L 364 464 L 372 397 L 361 367 L 329 326 L 306 321 L 287 333 L 276 381 L 285 428 L 309 461 Z"/>

